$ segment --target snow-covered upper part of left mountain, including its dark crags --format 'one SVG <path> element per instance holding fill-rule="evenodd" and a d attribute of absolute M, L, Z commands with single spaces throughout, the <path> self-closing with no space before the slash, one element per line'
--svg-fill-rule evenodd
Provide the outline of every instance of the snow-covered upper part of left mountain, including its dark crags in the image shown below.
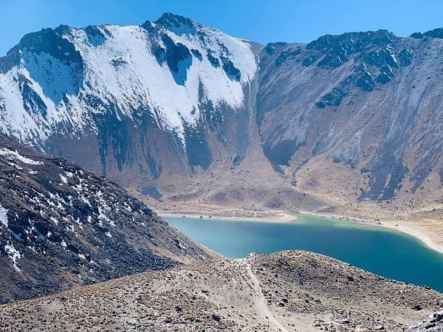
<path fill-rule="evenodd" d="M 108 143 L 122 144 L 112 134 L 125 136 L 120 125 L 130 122 L 161 131 L 185 160 L 181 151 L 205 148 L 203 119 L 244 109 L 257 70 L 252 48 L 169 13 L 142 26 L 30 33 L 0 59 L 0 129 L 46 151 L 56 136 L 93 134 L 106 158 Z"/>

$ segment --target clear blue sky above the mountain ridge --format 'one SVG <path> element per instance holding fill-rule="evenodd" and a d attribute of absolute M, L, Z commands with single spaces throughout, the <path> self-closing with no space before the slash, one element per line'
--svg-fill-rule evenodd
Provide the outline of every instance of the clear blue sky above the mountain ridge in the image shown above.
<path fill-rule="evenodd" d="M 262 44 L 310 42 L 326 33 L 357 30 L 410 35 L 443 27 L 443 1 L 434 0 L 0 0 L 0 55 L 42 28 L 141 24 L 163 12 Z"/>

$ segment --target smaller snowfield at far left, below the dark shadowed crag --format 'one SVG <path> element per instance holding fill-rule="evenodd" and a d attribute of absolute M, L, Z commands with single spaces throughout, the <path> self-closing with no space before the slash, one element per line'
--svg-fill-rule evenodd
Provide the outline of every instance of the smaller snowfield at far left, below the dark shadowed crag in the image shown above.
<path fill-rule="evenodd" d="M 50 62 L 51 68 L 57 68 L 57 71 L 48 73 L 40 68 L 42 62 Z M 6 73 L 0 73 L 0 131 L 8 136 L 19 138 L 22 142 L 31 142 L 36 147 L 41 147 L 44 140 L 53 133 L 57 126 L 69 127 L 73 133 L 84 131 L 84 124 L 87 123 L 87 111 L 80 107 L 77 98 L 73 95 L 66 95 L 72 105 L 70 109 L 66 107 L 65 100 L 55 102 L 51 96 L 45 95 L 42 85 L 39 84 L 30 74 L 30 69 L 40 70 L 39 77 L 51 86 L 52 89 L 60 89 L 60 86 L 67 83 L 63 80 L 55 80 L 53 77 L 59 77 L 60 71 L 65 70 L 62 62 L 49 56 L 46 53 L 33 55 L 32 61 L 27 64 L 21 59 L 18 66 L 14 66 Z M 34 74 L 35 75 L 35 74 Z M 60 78 L 60 77 L 59 77 Z M 46 114 L 39 113 L 33 109 L 30 104 L 29 93 L 26 98 L 22 95 L 24 83 L 20 81 L 25 79 L 29 90 L 44 102 Z M 27 109 L 26 109 L 26 108 Z"/>

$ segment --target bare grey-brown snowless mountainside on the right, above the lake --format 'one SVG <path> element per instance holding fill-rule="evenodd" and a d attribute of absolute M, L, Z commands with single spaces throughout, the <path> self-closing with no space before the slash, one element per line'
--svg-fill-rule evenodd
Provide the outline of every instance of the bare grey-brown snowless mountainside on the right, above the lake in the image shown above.
<path fill-rule="evenodd" d="M 266 46 L 257 113 L 266 156 L 295 171 L 323 156 L 368 174 L 359 201 L 415 193 L 440 176 L 438 36 L 378 30 Z"/>

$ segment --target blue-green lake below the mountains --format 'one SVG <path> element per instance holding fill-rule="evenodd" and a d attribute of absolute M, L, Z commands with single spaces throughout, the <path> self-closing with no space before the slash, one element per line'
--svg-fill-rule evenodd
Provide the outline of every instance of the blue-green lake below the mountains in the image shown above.
<path fill-rule="evenodd" d="M 345 261 L 377 275 L 443 292 L 443 255 L 408 234 L 298 214 L 290 223 L 163 217 L 172 227 L 230 258 L 299 249 Z"/>

